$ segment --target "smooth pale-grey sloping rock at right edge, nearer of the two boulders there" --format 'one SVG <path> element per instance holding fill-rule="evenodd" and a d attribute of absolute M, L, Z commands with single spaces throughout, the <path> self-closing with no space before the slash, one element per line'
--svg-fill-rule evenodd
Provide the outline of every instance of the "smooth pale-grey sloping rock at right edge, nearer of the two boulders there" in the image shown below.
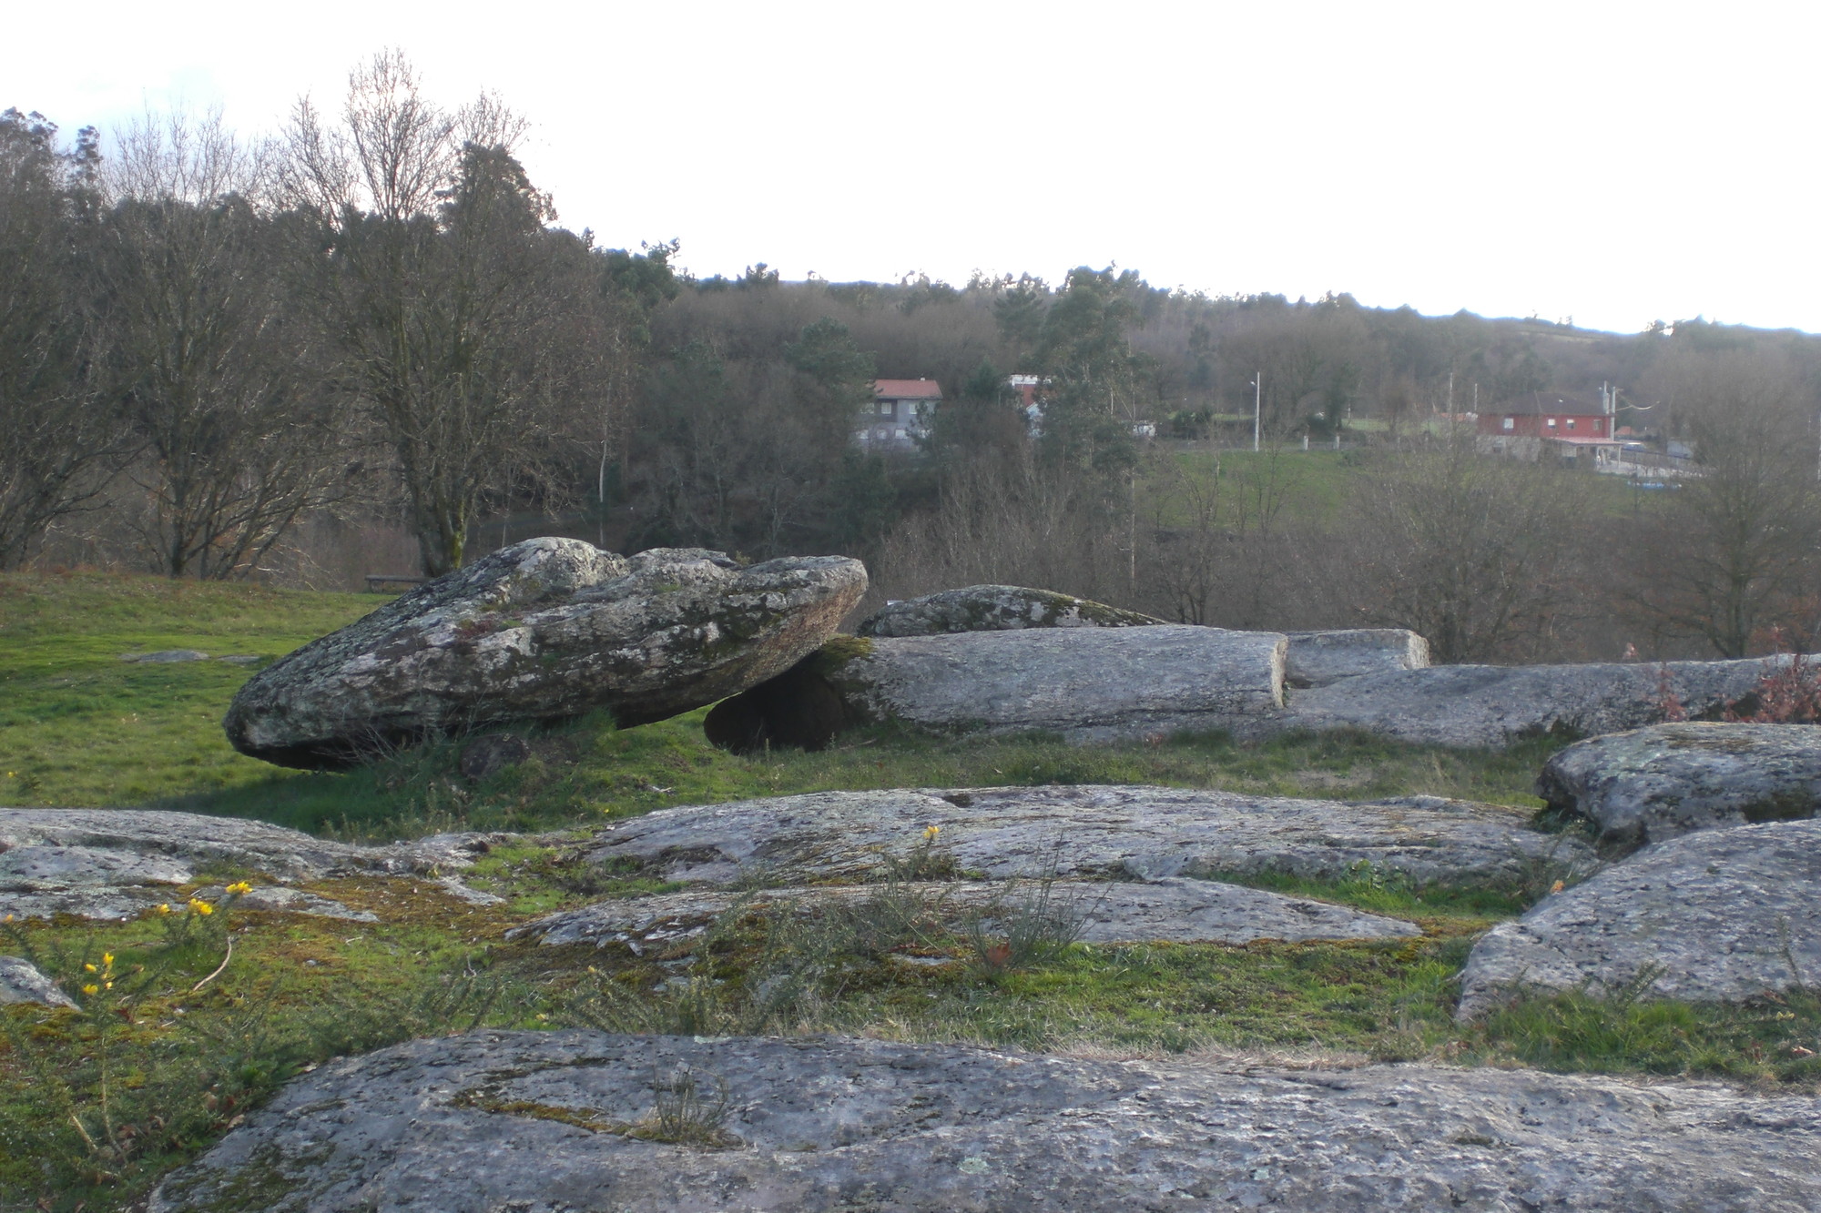
<path fill-rule="evenodd" d="M 1542 900 L 1473 945 L 1459 1014 L 1632 985 L 1690 1002 L 1821 985 L 1821 821 L 1683 834 Z"/>

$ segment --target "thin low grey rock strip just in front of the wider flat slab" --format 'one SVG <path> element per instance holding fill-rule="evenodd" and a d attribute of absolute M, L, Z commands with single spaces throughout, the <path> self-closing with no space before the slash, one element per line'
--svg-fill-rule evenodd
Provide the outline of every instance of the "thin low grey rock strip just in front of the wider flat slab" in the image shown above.
<path fill-rule="evenodd" d="M 765 889 L 745 903 L 827 905 L 881 896 L 881 885 Z M 889 896 L 910 896 L 934 918 L 985 914 L 989 927 L 1003 907 L 1038 896 L 1034 885 L 1005 882 L 903 883 Z M 1346 905 L 1289 898 L 1216 880 L 1164 878 L 1153 883 L 1058 880 L 1047 889 L 1049 907 L 1080 918 L 1083 943 L 1251 943 L 1253 940 L 1389 940 L 1422 934 L 1397 918 Z M 659 943 L 697 933 L 703 923 L 743 903 L 734 892 L 665 892 L 648 898 L 610 898 L 515 927 L 508 936 L 532 934 L 544 943 Z"/>

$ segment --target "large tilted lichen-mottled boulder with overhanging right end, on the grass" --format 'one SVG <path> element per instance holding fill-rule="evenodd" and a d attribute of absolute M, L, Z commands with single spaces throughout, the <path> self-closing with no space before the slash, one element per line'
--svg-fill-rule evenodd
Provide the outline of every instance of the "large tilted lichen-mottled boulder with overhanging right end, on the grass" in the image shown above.
<path fill-rule="evenodd" d="M 224 727 L 242 754 L 337 767 L 486 723 L 665 719 L 790 668 L 865 588 L 838 556 L 739 568 L 701 548 L 526 539 L 266 667 Z"/>

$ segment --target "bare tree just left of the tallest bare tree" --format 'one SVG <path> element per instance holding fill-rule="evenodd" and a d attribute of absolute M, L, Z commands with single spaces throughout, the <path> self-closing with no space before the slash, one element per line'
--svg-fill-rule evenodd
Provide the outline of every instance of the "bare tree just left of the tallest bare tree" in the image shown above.
<path fill-rule="evenodd" d="M 277 280 L 259 148 L 146 115 L 106 166 L 111 362 L 138 441 L 140 541 L 173 577 L 244 576 L 346 484 L 335 397 Z"/>

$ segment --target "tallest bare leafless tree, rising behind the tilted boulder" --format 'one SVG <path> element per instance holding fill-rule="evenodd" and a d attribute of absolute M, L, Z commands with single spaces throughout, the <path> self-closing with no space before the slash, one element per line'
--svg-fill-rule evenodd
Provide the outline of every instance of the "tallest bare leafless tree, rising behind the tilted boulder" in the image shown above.
<path fill-rule="evenodd" d="M 557 352 L 599 291 L 581 242 L 544 228 L 523 133 L 486 95 L 435 106 L 388 51 L 351 73 L 339 126 L 306 98 L 286 137 L 299 282 L 392 452 L 428 576 L 463 563 L 484 494 L 561 481 L 561 406 L 597 370 Z"/>

